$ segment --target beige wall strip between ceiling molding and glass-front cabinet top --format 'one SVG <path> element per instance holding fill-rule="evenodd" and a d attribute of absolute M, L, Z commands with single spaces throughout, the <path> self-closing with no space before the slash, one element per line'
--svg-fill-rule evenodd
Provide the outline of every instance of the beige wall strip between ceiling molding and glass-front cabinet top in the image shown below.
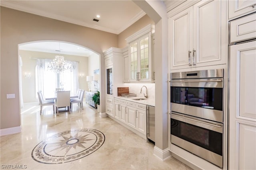
<path fill-rule="evenodd" d="M 143 16 L 140 18 L 140 20 L 136 21 L 134 24 L 132 24 L 130 27 L 122 31 L 118 35 L 118 48 L 124 48 L 128 46 L 126 43 L 126 38 L 129 37 L 130 35 L 136 33 L 140 29 L 146 27 L 148 24 L 154 25 L 154 21 L 151 20 L 148 15 Z"/>

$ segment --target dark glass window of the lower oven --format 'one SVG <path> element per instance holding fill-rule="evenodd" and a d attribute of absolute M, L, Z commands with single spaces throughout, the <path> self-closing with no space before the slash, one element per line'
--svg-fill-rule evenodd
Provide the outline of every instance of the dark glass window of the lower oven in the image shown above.
<path fill-rule="evenodd" d="M 222 156 L 222 133 L 171 119 L 171 134 Z"/>

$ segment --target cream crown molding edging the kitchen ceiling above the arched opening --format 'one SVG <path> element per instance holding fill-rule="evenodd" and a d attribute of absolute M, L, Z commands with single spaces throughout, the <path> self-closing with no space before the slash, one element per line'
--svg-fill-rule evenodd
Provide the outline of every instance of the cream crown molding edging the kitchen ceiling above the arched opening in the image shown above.
<path fill-rule="evenodd" d="M 76 25 L 81 25 L 81 26 L 84 26 L 84 27 L 92 28 L 92 29 L 98 29 L 100 31 L 106 31 L 106 32 L 109 32 L 109 33 L 114 33 L 114 34 L 121 33 L 122 31 L 124 31 L 126 28 L 128 28 L 130 25 L 132 25 L 134 22 L 138 21 L 140 18 L 142 18 L 146 14 L 144 11 L 141 11 L 139 14 L 134 16 L 134 18 L 132 18 L 132 20 L 129 23 L 127 23 L 126 25 L 124 25 L 120 29 L 110 29 L 110 28 L 98 26 L 98 25 L 95 25 L 95 24 L 92 24 L 92 23 L 86 23 L 86 22 L 82 22 L 82 21 L 79 21 L 79 20 L 74 20 L 72 18 L 63 17 L 63 16 L 56 15 L 56 14 L 53 14 L 53 13 L 50 13 L 50 12 L 44 12 L 42 10 L 35 10 L 33 8 L 29 8 L 29 7 L 20 5 L 17 2 L 13 2 L 13 1 L 10 1 L 10 0 L 1 0 L 0 1 L 0 6 L 6 7 L 6 8 L 11 8 L 11 9 L 14 9 L 14 10 L 19 10 L 19 11 L 22 11 L 22 12 L 27 12 L 27 13 L 30 13 L 30 14 L 35 14 L 35 15 L 38 15 L 38 16 L 44 16 L 44 17 L 47 17 L 47 18 L 52 18 L 52 19 L 55 19 L 55 20 L 60 20 L 60 21 L 68 22 L 68 23 L 73 23 L 73 24 L 76 24 Z"/>

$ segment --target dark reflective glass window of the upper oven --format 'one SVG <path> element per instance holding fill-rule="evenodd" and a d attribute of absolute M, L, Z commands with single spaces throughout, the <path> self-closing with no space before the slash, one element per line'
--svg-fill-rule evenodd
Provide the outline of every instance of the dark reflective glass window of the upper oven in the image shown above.
<path fill-rule="evenodd" d="M 222 88 L 171 86 L 171 102 L 222 111 Z"/>

